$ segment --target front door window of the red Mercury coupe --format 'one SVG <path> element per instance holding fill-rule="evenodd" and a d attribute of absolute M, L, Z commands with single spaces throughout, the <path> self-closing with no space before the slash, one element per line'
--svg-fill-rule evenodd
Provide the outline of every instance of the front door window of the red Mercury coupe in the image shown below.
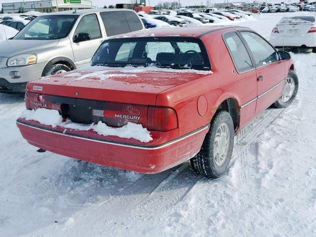
<path fill-rule="evenodd" d="M 240 32 L 240 34 L 253 54 L 256 67 L 278 61 L 275 49 L 266 40 L 252 32 Z"/>

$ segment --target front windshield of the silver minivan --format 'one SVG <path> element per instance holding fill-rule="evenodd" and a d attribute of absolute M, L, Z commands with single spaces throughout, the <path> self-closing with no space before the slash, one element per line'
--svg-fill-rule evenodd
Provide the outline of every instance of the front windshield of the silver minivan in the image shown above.
<path fill-rule="evenodd" d="M 27 24 L 14 40 L 57 40 L 68 36 L 77 15 L 38 16 Z"/>

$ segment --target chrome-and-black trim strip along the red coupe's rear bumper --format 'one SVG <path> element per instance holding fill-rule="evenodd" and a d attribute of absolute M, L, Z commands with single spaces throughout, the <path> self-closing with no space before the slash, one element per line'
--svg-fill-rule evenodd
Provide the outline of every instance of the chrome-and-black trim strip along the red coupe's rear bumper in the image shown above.
<path fill-rule="evenodd" d="M 127 145 L 127 144 L 122 144 L 122 143 L 115 143 L 115 142 L 110 142 L 110 141 L 101 141 L 101 140 L 90 139 L 90 138 L 86 138 L 86 137 L 80 137 L 80 136 L 71 135 L 71 134 L 62 133 L 62 132 L 55 132 L 55 131 L 52 131 L 52 130 L 42 129 L 42 128 L 39 128 L 39 127 L 36 127 L 36 126 L 32 126 L 32 125 L 29 125 L 29 124 L 25 124 L 25 123 L 22 123 L 22 122 L 18 122 L 18 121 L 16 121 L 16 123 L 18 123 L 20 125 L 23 125 L 23 126 L 31 127 L 31 128 L 34 128 L 34 129 L 38 129 L 38 130 L 41 130 L 41 131 L 50 132 L 50 133 L 54 133 L 54 134 L 58 134 L 58 135 L 62 135 L 62 136 L 74 137 L 74 138 L 78 138 L 78 139 L 82 139 L 82 140 L 86 140 L 86 141 L 93 141 L 93 142 L 99 142 L 99 143 L 114 145 L 114 146 L 129 147 L 129 148 L 142 149 L 142 150 L 157 150 L 157 149 L 161 149 L 161 148 L 170 146 L 170 145 L 172 145 L 174 143 L 180 142 L 180 141 L 182 141 L 182 140 L 184 140 L 184 139 L 186 139 L 188 137 L 191 137 L 191 136 L 193 136 L 193 135 L 195 135 L 195 134 L 197 134 L 197 133 L 199 133 L 201 131 L 204 131 L 205 129 L 207 129 L 209 127 L 209 124 L 208 124 L 206 126 L 203 126 L 203 127 L 199 128 L 199 129 L 197 129 L 193 133 L 190 133 L 188 135 L 180 137 L 180 138 L 178 138 L 176 140 L 164 143 L 164 144 L 159 145 L 157 147 L 149 147 L 149 146 L 145 147 L 145 146 L 137 146 L 137 145 Z"/>

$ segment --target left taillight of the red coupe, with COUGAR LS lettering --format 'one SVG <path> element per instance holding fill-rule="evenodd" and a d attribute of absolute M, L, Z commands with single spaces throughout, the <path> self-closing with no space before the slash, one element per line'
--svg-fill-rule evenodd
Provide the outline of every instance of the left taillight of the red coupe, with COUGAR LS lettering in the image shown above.
<path fill-rule="evenodd" d="M 28 91 L 25 93 L 25 106 L 28 110 L 45 108 L 49 110 L 58 110 L 61 112 L 61 104 L 45 101 L 45 95 Z"/>

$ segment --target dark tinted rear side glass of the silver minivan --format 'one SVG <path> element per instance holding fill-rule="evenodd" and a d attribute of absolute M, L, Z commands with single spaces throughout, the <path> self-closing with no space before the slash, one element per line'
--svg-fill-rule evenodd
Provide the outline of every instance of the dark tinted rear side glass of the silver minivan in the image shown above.
<path fill-rule="evenodd" d="M 143 29 L 133 11 L 105 11 L 100 13 L 107 36 L 116 36 Z"/>

